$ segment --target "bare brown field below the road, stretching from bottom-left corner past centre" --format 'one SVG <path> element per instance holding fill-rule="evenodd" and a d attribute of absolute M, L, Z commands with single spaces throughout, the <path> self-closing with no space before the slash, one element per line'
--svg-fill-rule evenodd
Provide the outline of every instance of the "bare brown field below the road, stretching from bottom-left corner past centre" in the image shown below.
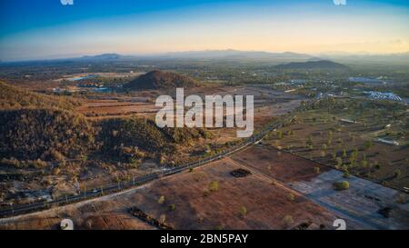
<path fill-rule="evenodd" d="M 230 174 L 240 167 L 226 158 L 126 193 L 0 220 L 0 228 L 50 229 L 66 217 L 81 229 L 146 228 L 127 213 L 134 206 L 156 219 L 165 218 L 176 229 L 289 229 L 302 223 L 310 229 L 332 228 L 334 213 L 263 174 L 243 178 Z M 212 182 L 217 182 L 216 190 L 211 189 Z"/>

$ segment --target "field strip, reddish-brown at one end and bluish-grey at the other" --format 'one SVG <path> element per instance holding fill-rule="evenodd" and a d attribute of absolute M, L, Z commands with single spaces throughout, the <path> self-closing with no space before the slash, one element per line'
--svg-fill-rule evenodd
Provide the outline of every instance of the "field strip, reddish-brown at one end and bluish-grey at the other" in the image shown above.
<path fill-rule="evenodd" d="M 402 194 L 394 189 L 355 176 L 344 178 L 343 173 L 316 164 L 302 157 L 271 147 L 254 146 L 234 154 L 234 161 L 244 164 L 274 179 L 284 182 L 305 197 L 327 210 L 349 217 L 370 229 L 408 229 L 409 203 L 396 203 Z M 315 168 L 320 168 L 319 173 Z M 350 188 L 335 191 L 334 182 L 348 181 Z M 384 217 L 381 209 L 390 208 L 391 216 Z"/>

